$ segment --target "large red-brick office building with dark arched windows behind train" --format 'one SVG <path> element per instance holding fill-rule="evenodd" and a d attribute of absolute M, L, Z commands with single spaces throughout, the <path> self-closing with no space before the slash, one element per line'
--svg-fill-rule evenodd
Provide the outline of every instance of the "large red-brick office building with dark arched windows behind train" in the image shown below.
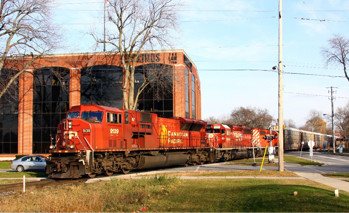
<path fill-rule="evenodd" d="M 167 89 L 144 89 L 136 110 L 201 119 L 199 76 L 182 49 L 142 52 L 135 67 L 135 91 L 144 81 L 144 70 L 164 67 L 171 69 L 175 78 Z M 61 73 L 60 81 L 52 70 Z M 57 132 L 57 125 L 72 106 L 123 108 L 124 75 L 120 54 L 55 54 L 36 60 L 16 81 L 18 101 L 0 102 L 0 159 L 48 153 L 50 134 Z"/>

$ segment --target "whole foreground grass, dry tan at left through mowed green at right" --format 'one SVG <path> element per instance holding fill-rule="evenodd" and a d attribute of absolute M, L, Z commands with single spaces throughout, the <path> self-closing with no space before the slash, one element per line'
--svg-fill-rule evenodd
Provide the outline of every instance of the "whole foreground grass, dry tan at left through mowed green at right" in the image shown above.
<path fill-rule="evenodd" d="M 348 212 L 349 193 L 333 190 L 309 180 L 156 176 L 17 191 L 0 198 L 0 212 Z"/>

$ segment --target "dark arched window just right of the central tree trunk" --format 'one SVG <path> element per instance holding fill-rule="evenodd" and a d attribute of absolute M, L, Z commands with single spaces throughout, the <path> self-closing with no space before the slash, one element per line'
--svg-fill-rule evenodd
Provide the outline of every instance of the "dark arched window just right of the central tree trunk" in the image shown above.
<path fill-rule="evenodd" d="M 166 64 L 145 64 L 135 68 L 135 96 L 144 79 L 156 78 L 140 93 L 137 110 L 155 113 L 159 117 L 173 117 L 173 83 L 170 78 L 172 73 L 172 66 Z"/>

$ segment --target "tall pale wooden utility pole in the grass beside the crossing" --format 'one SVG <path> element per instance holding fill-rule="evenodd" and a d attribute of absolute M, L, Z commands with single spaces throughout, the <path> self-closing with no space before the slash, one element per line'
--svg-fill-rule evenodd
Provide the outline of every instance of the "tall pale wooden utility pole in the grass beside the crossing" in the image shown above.
<path fill-rule="evenodd" d="M 283 172 L 282 0 L 279 0 L 279 171 Z"/>

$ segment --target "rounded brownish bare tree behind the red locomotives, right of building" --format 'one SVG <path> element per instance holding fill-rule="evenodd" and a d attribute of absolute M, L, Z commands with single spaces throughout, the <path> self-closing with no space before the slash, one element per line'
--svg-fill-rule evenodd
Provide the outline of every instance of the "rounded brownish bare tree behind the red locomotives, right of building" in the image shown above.
<path fill-rule="evenodd" d="M 259 107 L 236 107 L 231 111 L 231 125 L 242 125 L 250 128 L 268 128 L 273 122 L 269 110 Z"/>

